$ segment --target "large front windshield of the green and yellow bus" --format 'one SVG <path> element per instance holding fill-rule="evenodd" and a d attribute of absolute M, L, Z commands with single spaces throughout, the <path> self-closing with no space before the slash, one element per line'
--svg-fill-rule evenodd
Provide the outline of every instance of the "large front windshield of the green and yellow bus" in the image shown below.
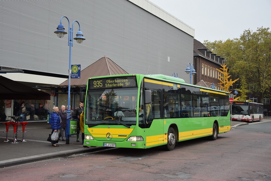
<path fill-rule="evenodd" d="M 88 90 L 85 103 L 85 124 L 136 125 L 138 88 Z"/>

